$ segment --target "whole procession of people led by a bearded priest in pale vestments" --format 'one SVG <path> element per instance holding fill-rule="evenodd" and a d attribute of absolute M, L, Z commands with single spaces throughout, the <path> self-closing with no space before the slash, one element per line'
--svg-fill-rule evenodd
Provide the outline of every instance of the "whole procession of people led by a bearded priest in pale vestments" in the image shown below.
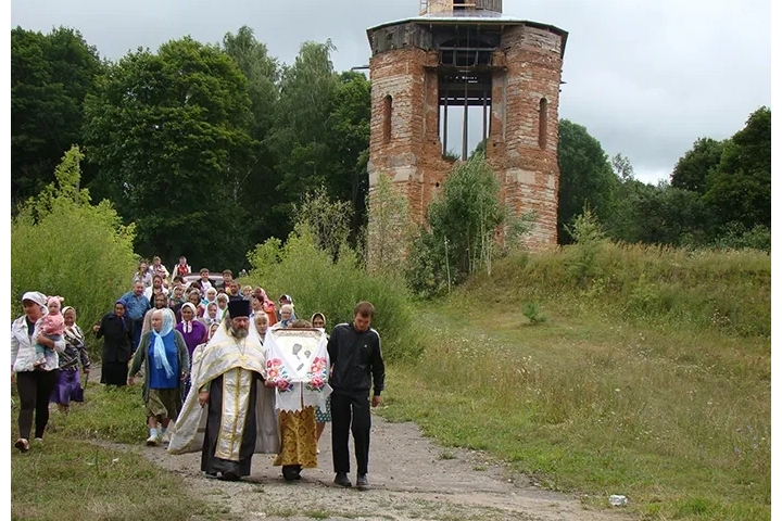
<path fill-rule="evenodd" d="M 358 303 L 352 322 L 329 335 L 325 315 L 298 318 L 290 295 L 275 303 L 263 288 L 240 288 L 230 270 L 222 280 L 210 274 L 203 268 L 186 284 L 192 275 L 185 257 L 171 271 L 160 257 L 141 262 L 130 291 L 92 326 L 102 340 L 101 383 L 143 381 L 147 445 L 167 445 L 172 454 L 200 450 L 201 470 L 230 481 L 250 474 L 253 454 L 276 454 L 273 465 L 294 481 L 317 467 L 318 441 L 331 422 L 335 483 L 352 486 L 352 432 L 356 486 L 368 486 L 369 407 L 381 403 L 384 384 L 373 305 Z M 11 326 L 12 382 L 21 402 L 14 446 L 23 453 L 34 416 L 34 441 L 42 441 L 50 402 L 67 412 L 71 402 L 84 401 L 79 366 L 85 374 L 90 370 L 85 334 L 76 310 L 61 309 L 63 303 L 27 292 L 24 315 Z M 312 343 L 312 368 L 298 367 L 305 377 L 293 380 L 295 371 L 286 371 L 275 344 L 279 330 L 301 332 Z"/>

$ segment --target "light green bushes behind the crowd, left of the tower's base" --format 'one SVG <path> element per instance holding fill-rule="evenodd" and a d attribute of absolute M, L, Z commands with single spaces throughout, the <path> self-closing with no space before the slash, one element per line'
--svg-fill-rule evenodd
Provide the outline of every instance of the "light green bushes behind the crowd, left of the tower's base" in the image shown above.
<path fill-rule="evenodd" d="M 418 323 L 404 280 L 394 274 L 370 276 L 346 245 L 335 260 L 318 249 L 304 227 L 286 241 L 270 240 L 251 255 L 254 269 L 248 282 L 263 287 L 270 295 L 290 294 L 299 318 L 315 312 L 326 315 L 327 329 L 353 320 L 361 301 L 375 306 L 373 327 L 382 341 L 389 360 L 415 359 L 422 350 Z"/>

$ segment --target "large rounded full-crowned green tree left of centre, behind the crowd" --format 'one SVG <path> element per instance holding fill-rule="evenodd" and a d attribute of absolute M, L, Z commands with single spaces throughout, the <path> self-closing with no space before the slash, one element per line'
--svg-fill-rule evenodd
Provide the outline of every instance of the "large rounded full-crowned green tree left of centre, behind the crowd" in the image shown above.
<path fill-rule="evenodd" d="M 87 157 L 128 221 L 136 251 L 220 269 L 250 250 L 237 188 L 252 163 L 248 81 L 213 46 L 130 52 L 86 101 Z"/>

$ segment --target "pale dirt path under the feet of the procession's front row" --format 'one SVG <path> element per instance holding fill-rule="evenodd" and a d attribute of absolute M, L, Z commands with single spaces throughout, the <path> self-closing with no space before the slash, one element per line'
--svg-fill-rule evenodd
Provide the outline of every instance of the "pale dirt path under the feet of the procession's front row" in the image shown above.
<path fill-rule="evenodd" d="M 286 482 L 273 457 L 255 455 L 252 475 L 229 483 L 199 471 L 200 453 L 174 456 L 162 447 L 109 445 L 134 450 L 176 472 L 193 497 L 219 511 L 218 519 L 252 520 L 620 520 L 621 511 L 581 507 L 577 498 L 543 491 L 510 475 L 487 455 L 443 449 L 411 422 L 391 423 L 373 414 L 368 491 L 333 485 L 330 424 L 320 440 L 319 467 Z M 351 442 L 352 447 L 352 442 Z M 352 448 L 351 448 L 352 450 Z M 351 458 L 354 458 L 351 454 Z M 355 459 L 352 459 L 355 465 Z M 351 475 L 355 481 L 355 471 Z M 292 503 L 293 498 L 295 504 Z M 295 505 L 295 506 L 294 506 Z M 200 521 L 200 520 L 193 520 Z"/>

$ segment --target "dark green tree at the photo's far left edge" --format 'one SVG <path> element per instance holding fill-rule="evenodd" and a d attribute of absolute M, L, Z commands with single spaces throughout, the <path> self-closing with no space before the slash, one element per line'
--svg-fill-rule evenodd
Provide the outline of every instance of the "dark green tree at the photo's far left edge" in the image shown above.
<path fill-rule="evenodd" d="M 80 142 L 84 99 L 101 68 L 78 30 L 11 30 L 12 204 L 53 181 L 62 155 Z"/>

